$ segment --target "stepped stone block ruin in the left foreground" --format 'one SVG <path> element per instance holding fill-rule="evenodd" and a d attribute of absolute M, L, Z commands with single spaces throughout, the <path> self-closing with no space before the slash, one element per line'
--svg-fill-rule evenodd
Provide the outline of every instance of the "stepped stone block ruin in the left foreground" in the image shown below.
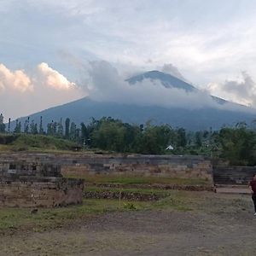
<path fill-rule="evenodd" d="M 65 178 L 61 166 L 0 162 L 0 207 L 62 207 L 79 204 L 83 181 Z"/>

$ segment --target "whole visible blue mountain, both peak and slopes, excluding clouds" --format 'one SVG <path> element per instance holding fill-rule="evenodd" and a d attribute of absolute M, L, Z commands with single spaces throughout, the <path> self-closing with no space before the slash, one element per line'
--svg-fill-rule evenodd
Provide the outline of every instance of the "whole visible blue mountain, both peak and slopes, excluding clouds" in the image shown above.
<path fill-rule="evenodd" d="M 143 73 L 127 81 L 131 86 L 139 86 L 137 82 L 143 79 L 158 80 L 166 88 L 177 88 L 184 90 L 184 93 L 198 91 L 193 85 L 183 82 L 169 74 L 152 71 Z M 81 122 L 88 123 L 90 118 L 101 119 L 103 116 L 110 116 L 114 119 L 122 119 L 125 122 L 143 124 L 148 120 L 152 120 L 154 124 L 169 124 L 173 127 L 184 127 L 188 130 L 201 129 L 218 129 L 222 125 L 235 125 L 237 122 L 246 121 L 248 124 L 255 119 L 256 110 L 247 108 L 235 103 L 230 103 L 212 96 L 212 98 L 223 106 L 229 103 L 238 110 L 227 110 L 224 108 L 200 108 L 186 109 L 177 107 L 158 107 L 158 106 L 138 106 L 135 104 L 120 104 L 115 102 L 95 102 L 90 98 L 85 97 L 75 102 L 49 108 L 39 113 L 34 113 L 30 119 L 34 119 L 39 124 L 40 116 L 43 117 L 44 127 L 52 120 L 59 121 L 70 118 L 76 124 Z M 24 123 L 25 118 L 20 121 Z M 12 122 L 11 127 L 14 128 L 15 122 Z"/>

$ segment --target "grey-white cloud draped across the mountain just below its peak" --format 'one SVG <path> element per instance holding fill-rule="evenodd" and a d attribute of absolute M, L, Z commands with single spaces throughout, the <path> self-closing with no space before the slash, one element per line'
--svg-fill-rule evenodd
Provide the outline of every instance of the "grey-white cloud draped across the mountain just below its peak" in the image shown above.
<path fill-rule="evenodd" d="M 90 62 L 90 98 L 98 102 L 119 102 L 141 106 L 177 108 L 218 108 L 212 97 L 205 91 L 166 88 L 160 82 L 144 79 L 137 84 L 125 82 L 107 61 Z"/>

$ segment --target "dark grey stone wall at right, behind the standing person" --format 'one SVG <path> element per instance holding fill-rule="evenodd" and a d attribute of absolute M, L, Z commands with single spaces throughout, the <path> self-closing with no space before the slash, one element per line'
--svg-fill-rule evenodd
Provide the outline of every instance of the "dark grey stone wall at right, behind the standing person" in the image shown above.
<path fill-rule="evenodd" d="M 213 166 L 213 181 L 215 184 L 247 185 L 254 173 L 254 166 Z"/>

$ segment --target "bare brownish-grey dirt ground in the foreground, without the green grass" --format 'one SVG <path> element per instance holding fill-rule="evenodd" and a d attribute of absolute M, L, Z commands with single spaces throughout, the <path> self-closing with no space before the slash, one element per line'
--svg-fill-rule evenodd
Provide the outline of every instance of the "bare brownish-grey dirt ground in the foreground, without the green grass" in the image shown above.
<path fill-rule="evenodd" d="M 0 255 L 256 255 L 248 195 L 193 193 L 189 208 L 108 212 L 57 230 L 0 237 Z M 172 200 L 173 205 L 173 200 Z"/>

